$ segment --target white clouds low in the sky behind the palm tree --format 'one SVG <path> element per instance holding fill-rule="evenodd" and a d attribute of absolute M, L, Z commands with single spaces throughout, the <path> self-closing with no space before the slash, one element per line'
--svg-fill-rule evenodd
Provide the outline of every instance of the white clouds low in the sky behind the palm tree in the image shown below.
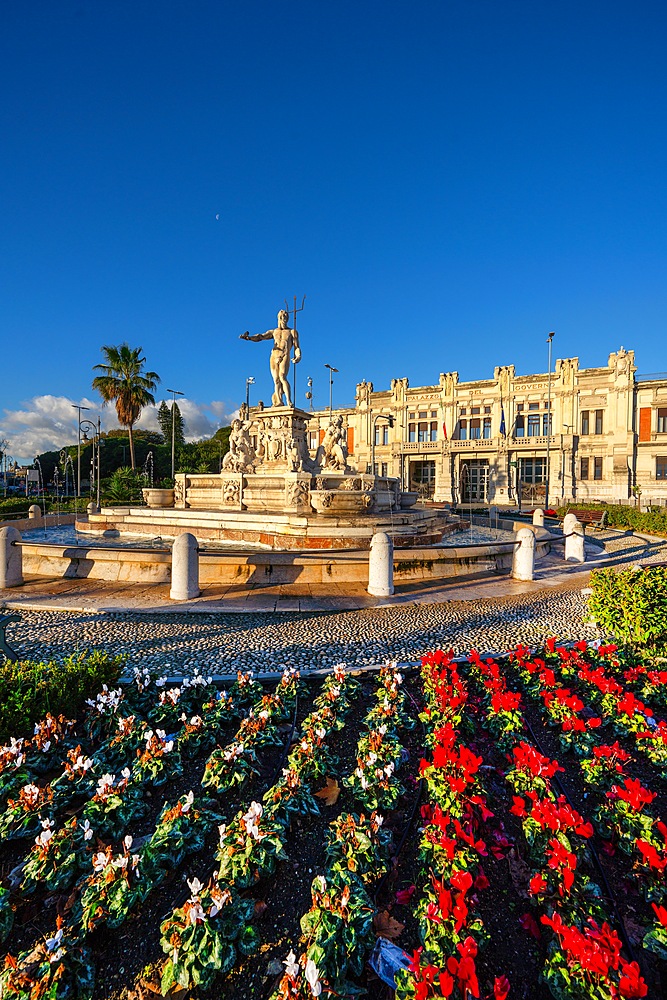
<path fill-rule="evenodd" d="M 167 400 L 169 403 L 169 400 Z M 101 418 L 102 430 L 110 431 L 118 427 L 116 411 L 112 405 L 102 407 L 98 400 L 84 397 L 77 405 L 89 407 L 81 418 L 90 418 L 97 423 Z M 159 405 L 159 401 L 158 401 Z M 185 437 L 188 441 L 198 441 L 210 437 L 218 427 L 228 424 L 235 413 L 226 411 L 224 403 L 195 403 L 190 399 L 179 399 L 183 414 Z M 157 407 L 147 407 L 137 423 L 144 430 L 159 430 Z M 5 410 L 0 417 L 0 441 L 7 441 L 7 453 L 19 463 L 32 463 L 35 455 L 44 451 L 55 451 L 77 440 L 76 411 L 72 401 L 65 396 L 35 396 L 25 402 L 19 410 Z"/>

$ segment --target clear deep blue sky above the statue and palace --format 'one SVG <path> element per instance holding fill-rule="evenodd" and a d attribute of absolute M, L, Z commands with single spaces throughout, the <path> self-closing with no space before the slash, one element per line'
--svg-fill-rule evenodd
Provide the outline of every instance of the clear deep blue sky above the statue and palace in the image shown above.
<path fill-rule="evenodd" d="M 302 404 L 327 362 L 340 404 L 546 371 L 549 330 L 666 369 L 666 29 L 652 0 L 5 0 L 0 438 L 66 437 L 124 340 L 215 429 L 246 376 L 269 401 L 238 336 L 294 294 Z"/>

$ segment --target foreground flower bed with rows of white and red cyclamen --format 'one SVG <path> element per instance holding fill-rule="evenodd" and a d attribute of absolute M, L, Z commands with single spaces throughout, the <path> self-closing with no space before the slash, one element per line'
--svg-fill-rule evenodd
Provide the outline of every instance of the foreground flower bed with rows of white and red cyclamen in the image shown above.
<path fill-rule="evenodd" d="M 0 995 L 660 996 L 666 680 L 549 640 L 91 692 L 0 748 Z"/>

